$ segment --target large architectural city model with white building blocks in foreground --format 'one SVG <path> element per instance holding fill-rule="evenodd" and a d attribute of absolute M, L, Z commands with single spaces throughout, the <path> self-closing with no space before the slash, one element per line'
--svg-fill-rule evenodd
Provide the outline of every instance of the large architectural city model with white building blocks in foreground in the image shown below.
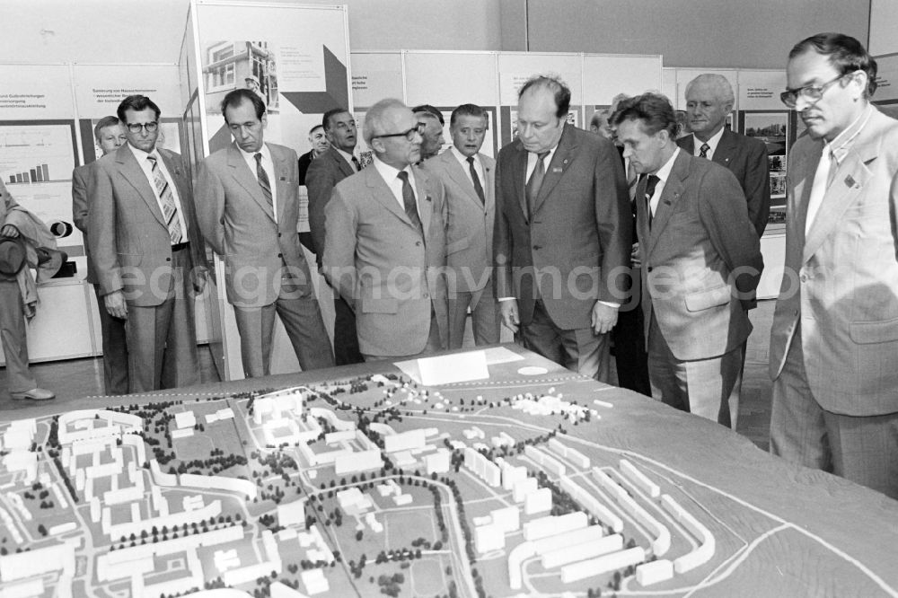
<path fill-rule="evenodd" d="M 520 347 L 464 358 L 488 378 L 380 362 L 17 411 L 0 592 L 898 594 L 898 502 Z"/>

